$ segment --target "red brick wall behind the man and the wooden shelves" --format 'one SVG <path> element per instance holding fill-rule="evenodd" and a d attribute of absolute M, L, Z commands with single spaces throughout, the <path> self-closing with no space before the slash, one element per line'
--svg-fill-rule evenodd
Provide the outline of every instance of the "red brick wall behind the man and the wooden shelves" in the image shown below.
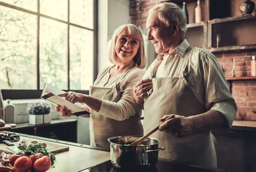
<path fill-rule="evenodd" d="M 130 0 L 131 23 L 140 27 L 145 34 L 148 10 L 161 2 L 163 0 Z M 256 55 L 256 51 L 214 54 L 226 77 L 231 77 L 233 63 L 236 77 L 250 76 L 250 57 Z M 232 95 L 238 106 L 236 120 L 256 120 L 256 114 L 252 112 L 256 110 L 256 81 L 233 81 Z"/>

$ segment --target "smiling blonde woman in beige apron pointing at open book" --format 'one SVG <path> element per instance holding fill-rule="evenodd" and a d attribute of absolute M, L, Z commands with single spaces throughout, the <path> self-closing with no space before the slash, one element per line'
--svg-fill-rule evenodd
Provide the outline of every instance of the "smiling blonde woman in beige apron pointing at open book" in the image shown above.
<path fill-rule="evenodd" d="M 90 88 L 90 95 L 67 92 L 61 97 L 72 103 L 85 103 L 90 110 L 91 146 L 110 148 L 108 138 L 121 135 L 143 135 L 140 122 L 141 109 L 133 97 L 133 86 L 145 71 L 143 36 L 133 24 L 122 25 L 113 33 L 108 58 L 113 66 L 99 72 Z M 62 116 L 70 110 L 56 106 Z"/>

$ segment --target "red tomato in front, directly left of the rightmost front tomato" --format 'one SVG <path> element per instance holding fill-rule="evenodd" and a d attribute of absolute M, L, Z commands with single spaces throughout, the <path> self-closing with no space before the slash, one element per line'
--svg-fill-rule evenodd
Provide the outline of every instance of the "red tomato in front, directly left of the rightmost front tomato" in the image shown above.
<path fill-rule="evenodd" d="M 27 172 L 32 168 L 32 161 L 28 157 L 22 156 L 15 161 L 14 168 L 17 172 Z"/>

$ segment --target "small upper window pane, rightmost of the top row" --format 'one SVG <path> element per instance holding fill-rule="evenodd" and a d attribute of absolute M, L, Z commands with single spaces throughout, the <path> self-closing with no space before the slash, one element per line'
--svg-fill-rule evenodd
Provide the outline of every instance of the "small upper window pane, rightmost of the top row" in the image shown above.
<path fill-rule="evenodd" d="M 93 29 L 93 0 L 70 0 L 70 23 Z"/>

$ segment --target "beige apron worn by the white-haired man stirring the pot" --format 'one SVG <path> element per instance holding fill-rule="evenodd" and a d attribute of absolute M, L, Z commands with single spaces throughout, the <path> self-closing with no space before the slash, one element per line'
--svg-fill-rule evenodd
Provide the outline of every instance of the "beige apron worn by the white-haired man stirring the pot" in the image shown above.
<path fill-rule="evenodd" d="M 191 46 L 187 49 L 186 60 L 179 77 L 152 79 L 153 92 L 144 102 L 144 133 L 157 126 L 160 123 L 159 119 L 164 115 L 175 114 L 189 117 L 207 111 L 189 88 L 189 84 L 184 77 L 191 49 Z M 160 63 L 158 63 L 159 65 Z M 156 69 L 158 66 L 156 66 Z M 156 70 L 153 72 L 153 77 L 155 72 Z M 160 158 L 217 167 L 211 132 L 177 138 L 172 134 L 158 130 L 151 137 L 159 139 L 159 146 L 166 148 L 159 152 Z"/>

